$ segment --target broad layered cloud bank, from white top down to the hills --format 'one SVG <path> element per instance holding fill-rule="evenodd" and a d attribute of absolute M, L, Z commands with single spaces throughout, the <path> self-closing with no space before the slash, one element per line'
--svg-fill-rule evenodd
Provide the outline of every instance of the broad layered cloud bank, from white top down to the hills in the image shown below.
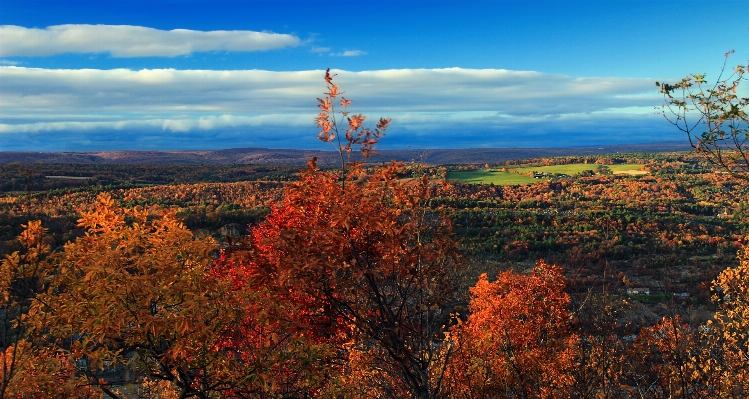
<path fill-rule="evenodd" d="M 652 80 L 508 70 L 335 71 L 351 110 L 391 116 L 385 146 L 680 139 Z M 312 148 L 324 71 L 0 67 L 0 150 Z"/>

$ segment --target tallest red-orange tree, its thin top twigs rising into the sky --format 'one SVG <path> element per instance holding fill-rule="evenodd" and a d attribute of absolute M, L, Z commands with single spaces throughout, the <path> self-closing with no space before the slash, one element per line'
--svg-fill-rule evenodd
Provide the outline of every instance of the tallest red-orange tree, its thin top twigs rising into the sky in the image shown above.
<path fill-rule="evenodd" d="M 372 154 L 389 119 L 365 128 L 363 115 L 345 110 L 351 101 L 337 100 L 333 76 L 325 74 L 317 124 L 321 140 L 339 140 L 341 169 L 320 171 L 310 161 L 251 237 L 225 256 L 243 268 L 245 289 L 294 303 L 279 318 L 286 331 L 337 348 L 337 358 L 321 359 L 335 365 L 331 380 L 343 383 L 341 373 L 356 370 L 387 376 L 392 389 L 414 397 L 435 397 L 458 260 L 449 220 L 427 207 L 440 185 L 399 179 L 397 163 L 346 162 L 357 148 Z M 344 110 L 336 113 L 336 104 Z M 386 360 L 362 364 L 372 351 Z"/>

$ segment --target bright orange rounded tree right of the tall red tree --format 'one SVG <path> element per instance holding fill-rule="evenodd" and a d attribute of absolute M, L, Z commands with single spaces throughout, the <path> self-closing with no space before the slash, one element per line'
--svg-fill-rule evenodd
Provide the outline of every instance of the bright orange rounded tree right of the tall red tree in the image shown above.
<path fill-rule="evenodd" d="M 576 336 L 561 268 L 486 275 L 471 288 L 469 315 L 450 330 L 449 381 L 466 398 L 564 398 L 573 385 Z"/>

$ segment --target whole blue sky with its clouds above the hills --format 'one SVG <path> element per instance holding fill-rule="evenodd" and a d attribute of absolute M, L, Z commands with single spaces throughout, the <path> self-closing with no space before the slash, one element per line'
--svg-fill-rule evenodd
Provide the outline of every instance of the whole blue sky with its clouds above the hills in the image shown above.
<path fill-rule="evenodd" d="M 327 68 L 382 149 L 685 141 L 729 50 L 749 1 L 0 0 L 0 151 L 331 149 Z"/>

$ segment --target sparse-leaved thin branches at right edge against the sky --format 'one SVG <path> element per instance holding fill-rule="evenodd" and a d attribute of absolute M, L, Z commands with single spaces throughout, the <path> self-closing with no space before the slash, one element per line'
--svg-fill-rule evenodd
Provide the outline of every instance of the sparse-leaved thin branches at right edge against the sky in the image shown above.
<path fill-rule="evenodd" d="M 685 77 L 676 84 L 656 82 L 663 94 L 661 114 L 687 134 L 689 143 L 712 164 L 733 176 L 749 180 L 749 98 L 739 97 L 738 89 L 749 65 L 738 65 L 724 77 L 726 53 L 721 73 L 709 84 L 705 74 Z"/>

